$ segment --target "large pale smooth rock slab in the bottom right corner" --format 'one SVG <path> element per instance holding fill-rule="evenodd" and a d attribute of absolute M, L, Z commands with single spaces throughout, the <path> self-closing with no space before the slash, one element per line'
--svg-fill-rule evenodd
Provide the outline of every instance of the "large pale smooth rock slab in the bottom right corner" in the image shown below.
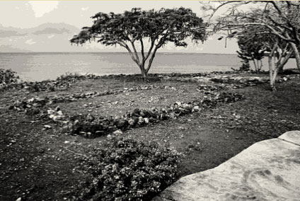
<path fill-rule="evenodd" d="M 300 132 L 258 142 L 200 173 L 180 178 L 154 201 L 300 200 Z"/>

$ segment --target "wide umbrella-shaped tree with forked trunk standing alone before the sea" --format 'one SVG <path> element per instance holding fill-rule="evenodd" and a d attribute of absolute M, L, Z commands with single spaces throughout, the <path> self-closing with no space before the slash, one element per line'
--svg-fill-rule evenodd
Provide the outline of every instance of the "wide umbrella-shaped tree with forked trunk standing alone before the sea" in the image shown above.
<path fill-rule="evenodd" d="M 142 11 L 132 8 L 124 13 L 97 13 L 91 27 L 82 28 L 70 40 L 83 44 L 87 41 L 103 45 L 125 47 L 146 79 L 156 52 L 168 42 L 186 47 L 185 39 L 204 41 L 207 24 L 189 8 L 161 8 L 159 11 Z M 140 48 L 140 53 L 137 51 Z M 148 49 L 148 50 L 146 50 Z M 147 60 L 149 59 L 148 63 Z"/>

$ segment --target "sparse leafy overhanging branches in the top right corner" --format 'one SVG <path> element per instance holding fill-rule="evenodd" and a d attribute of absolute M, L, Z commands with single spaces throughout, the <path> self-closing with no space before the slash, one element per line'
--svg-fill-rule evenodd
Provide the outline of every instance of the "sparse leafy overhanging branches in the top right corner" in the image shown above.
<path fill-rule="evenodd" d="M 263 31 L 257 34 L 271 34 L 289 43 L 300 69 L 300 1 L 219 1 L 205 3 L 202 8 L 212 11 L 211 19 L 222 10 L 222 15 L 211 23 L 214 32 L 226 30 L 232 37 L 233 30 L 239 33 L 245 28 L 261 27 Z"/>

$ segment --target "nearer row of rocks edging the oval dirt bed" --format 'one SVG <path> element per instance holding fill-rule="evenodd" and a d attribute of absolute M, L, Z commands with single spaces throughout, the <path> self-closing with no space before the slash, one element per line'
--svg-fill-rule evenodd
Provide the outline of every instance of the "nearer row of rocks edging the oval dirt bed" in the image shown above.
<path fill-rule="evenodd" d="M 243 96 L 236 93 L 216 93 L 215 96 L 206 97 L 201 101 L 176 102 L 168 108 L 151 108 L 151 110 L 136 108 L 132 113 L 126 113 L 122 117 L 96 118 L 91 114 L 76 115 L 69 119 L 64 128 L 71 134 L 93 138 L 116 130 L 125 131 L 133 127 L 148 125 L 151 122 L 176 119 L 183 115 L 199 112 L 202 108 L 214 108 L 217 103 L 232 103 L 242 99 Z"/>

